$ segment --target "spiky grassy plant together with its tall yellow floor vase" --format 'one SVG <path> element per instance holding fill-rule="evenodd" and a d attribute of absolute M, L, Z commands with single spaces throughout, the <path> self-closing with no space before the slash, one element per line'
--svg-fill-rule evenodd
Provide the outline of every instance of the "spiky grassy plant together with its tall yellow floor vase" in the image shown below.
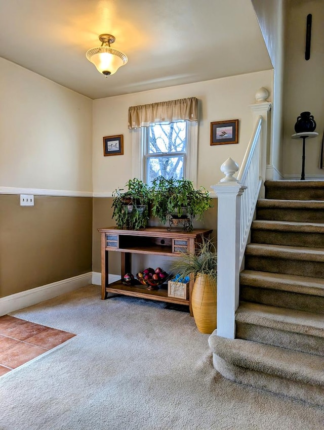
<path fill-rule="evenodd" d="M 171 269 L 180 278 L 194 279 L 192 313 L 198 330 L 210 334 L 217 318 L 217 252 L 211 239 L 203 238 L 196 253 L 181 253 Z"/>

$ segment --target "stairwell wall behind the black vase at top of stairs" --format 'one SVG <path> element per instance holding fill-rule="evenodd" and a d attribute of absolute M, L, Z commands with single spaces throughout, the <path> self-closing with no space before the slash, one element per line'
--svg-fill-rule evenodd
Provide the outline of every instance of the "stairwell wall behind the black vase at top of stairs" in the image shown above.
<path fill-rule="evenodd" d="M 312 14 L 310 59 L 305 60 L 306 17 Z M 286 64 L 284 93 L 284 173 L 300 179 L 302 141 L 292 140 L 297 116 L 310 111 L 319 136 L 306 141 L 305 176 L 323 179 L 319 169 L 324 117 L 324 5 L 322 0 L 289 0 L 286 18 Z"/>

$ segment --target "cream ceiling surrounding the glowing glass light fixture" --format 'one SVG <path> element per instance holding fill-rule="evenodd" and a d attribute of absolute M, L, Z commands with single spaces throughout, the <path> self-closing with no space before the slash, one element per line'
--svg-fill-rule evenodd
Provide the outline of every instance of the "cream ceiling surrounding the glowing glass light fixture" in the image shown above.
<path fill-rule="evenodd" d="M 0 56 L 92 99 L 271 69 L 251 0 L 0 0 Z M 128 56 L 86 57 L 98 36 Z"/>

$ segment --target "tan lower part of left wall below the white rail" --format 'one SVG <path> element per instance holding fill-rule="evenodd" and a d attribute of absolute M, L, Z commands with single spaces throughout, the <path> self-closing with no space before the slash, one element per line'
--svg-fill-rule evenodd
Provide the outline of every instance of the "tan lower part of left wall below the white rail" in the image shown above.
<path fill-rule="evenodd" d="M 0 296 L 92 270 L 92 198 L 0 195 Z"/>

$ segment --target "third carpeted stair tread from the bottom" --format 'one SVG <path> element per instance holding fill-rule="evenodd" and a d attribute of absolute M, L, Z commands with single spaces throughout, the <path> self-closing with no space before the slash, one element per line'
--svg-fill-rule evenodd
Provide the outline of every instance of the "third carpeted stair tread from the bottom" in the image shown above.
<path fill-rule="evenodd" d="M 324 279 L 309 276 L 243 270 L 240 284 L 324 296 Z"/>

